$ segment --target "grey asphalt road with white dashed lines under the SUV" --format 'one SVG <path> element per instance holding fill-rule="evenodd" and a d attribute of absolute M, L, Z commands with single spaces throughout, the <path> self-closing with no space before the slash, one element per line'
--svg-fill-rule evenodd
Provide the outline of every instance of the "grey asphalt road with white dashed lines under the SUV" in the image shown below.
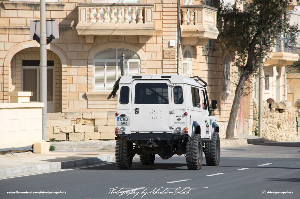
<path fill-rule="evenodd" d="M 106 163 L 0 180 L 0 198 L 300 198 L 299 142 L 221 149 L 219 166 L 206 166 L 204 158 L 196 171 L 187 170 L 183 155 L 157 156 L 151 166 L 134 159 L 130 170 Z"/>

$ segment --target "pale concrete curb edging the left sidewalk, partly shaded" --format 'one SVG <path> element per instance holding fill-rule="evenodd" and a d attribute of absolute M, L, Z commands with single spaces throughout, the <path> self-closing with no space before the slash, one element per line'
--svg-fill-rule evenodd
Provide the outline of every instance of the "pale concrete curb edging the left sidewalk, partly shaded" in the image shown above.
<path fill-rule="evenodd" d="M 44 172 L 53 172 L 53 171 L 58 171 L 60 169 L 69 169 L 78 166 L 96 165 L 105 162 L 113 162 L 115 160 L 116 160 L 115 154 L 108 154 L 104 156 L 91 157 L 91 158 L 85 158 L 79 160 L 70 160 L 70 161 L 63 161 L 63 162 L 53 162 L 53 163 L 6 168 L 6 169 L 0 169 L 0 179 L 7 178 L 7 177 L 16 177 L 22 175 L 44 173 Z"/>

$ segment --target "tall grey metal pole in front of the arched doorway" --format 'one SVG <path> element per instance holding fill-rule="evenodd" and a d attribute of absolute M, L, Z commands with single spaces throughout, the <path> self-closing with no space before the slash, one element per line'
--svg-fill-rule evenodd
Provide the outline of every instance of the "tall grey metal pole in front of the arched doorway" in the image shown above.
<path fill-rule="evenodd" d="M 46 48 L 46 3 L 40 0 L 40 102 L 44 102 L 42 108 L 42 139 L 47 140 L 47 48 Z"/>

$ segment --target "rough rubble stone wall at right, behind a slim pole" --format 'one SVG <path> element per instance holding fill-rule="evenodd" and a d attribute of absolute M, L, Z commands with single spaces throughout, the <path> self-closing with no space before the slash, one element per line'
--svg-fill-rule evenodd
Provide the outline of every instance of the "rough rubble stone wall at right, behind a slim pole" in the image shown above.
<path fill-rule="evenodd" d="M 272 102 L 271 110 L 269 104 L 263 101 L 262 113 L 262 137 L 275 141 L 299 140 L 297 137 L 296 113 L 291 102 Z M 258 100 L 253 99 L 253 135 L 258 134 Z"/>

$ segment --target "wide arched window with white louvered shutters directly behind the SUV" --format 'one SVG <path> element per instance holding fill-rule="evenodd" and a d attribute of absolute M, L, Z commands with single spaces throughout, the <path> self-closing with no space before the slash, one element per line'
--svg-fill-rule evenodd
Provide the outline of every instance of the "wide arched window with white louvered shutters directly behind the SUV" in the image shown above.
<path fill-rule="evenodd" d="M 125 75 L 140 74 L 140 57 L 126 49 L 106 49 L 95 54 L 93 59 L 93 90 L 112 91 L 115 82 L 121 77 L 120 56 L 125 54 Z"/>

